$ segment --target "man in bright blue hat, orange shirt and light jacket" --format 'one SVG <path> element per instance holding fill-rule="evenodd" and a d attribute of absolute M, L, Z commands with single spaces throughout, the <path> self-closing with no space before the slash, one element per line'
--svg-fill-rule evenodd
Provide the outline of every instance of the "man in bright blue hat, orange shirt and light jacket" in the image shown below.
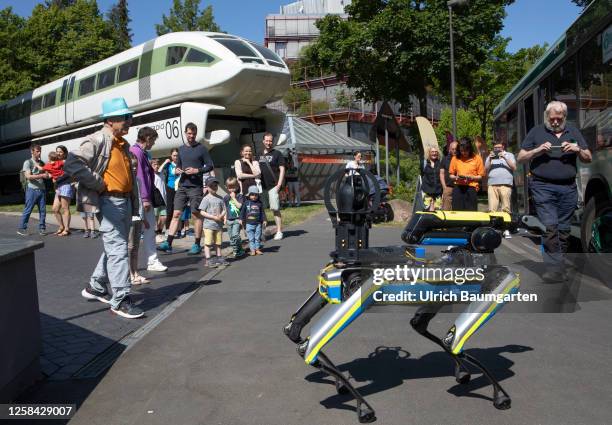
<path fill-rule="evenodd" d="M 138 215 L 140 211 L 135 158 L 123 138 L 132 123 L 132 113 L 122 97 L 104 101 L 102 129 L 70 152 L 64 164 L 64 171 L 78 182 L 77 210 L 86 207 L 97 212 L 104 243 L 102 256 L 81 295 L 110 304 L 111 312 L 129 319 L 144 315 L 130 297 L 128 235 L 133 212 Z"/>

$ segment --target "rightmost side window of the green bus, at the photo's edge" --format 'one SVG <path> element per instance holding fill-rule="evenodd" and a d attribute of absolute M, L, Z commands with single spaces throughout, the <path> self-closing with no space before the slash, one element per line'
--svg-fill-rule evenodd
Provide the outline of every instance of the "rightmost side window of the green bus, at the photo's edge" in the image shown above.
<path fill-rule="evenodd" d="M 594 128 L 595 140 L 588 140 L 597 150 L 612 147 L 612 61 L 602 60 L 602 36 L 593 37 L 580 50 L 580 124 L 583 130 Z"/>

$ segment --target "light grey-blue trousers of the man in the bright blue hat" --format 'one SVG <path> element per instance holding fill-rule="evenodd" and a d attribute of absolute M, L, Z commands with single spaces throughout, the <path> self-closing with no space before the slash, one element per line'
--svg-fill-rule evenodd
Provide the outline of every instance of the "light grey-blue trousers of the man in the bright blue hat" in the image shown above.
<path fill-rule="evenodd" d="M 97 291 L 106 292 L 110 283 L 113 292 L 110 304 L 117 308 L 132 287 L 128 257 L 132 202 L 127 198 L 101 196 L 98 220 L 104 251 L 89 284 Z"/>

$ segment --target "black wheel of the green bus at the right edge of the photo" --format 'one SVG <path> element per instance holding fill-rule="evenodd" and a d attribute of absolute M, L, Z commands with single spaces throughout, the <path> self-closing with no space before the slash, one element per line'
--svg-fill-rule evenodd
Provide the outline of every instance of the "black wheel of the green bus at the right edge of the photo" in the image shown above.
<path fill-rule="evenodd" d="M 580 226 L 583 252 L 612 252 L 612 240 L 608 236 L 610 226 L 612 226 L 612 201 L 593 196 L 584 208 Z"/>

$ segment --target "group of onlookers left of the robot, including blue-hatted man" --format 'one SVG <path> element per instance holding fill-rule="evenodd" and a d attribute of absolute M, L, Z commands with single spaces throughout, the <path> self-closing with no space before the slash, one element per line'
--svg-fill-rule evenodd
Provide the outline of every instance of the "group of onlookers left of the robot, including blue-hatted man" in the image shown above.
<path fill-rule="evenodd" d="M 28 234 L 29 217 L 38 206 L 39 232 L 46 234 L 45 181 L 51 180 L 58 223 L 55 234 L 71 234 L 69 207 L 76 194 L 77 211 L 84 220 L 83 236 L 101 236 L 104 249 L 89 285 L 81 292 L 83 297 L 110 304 L 111 310 L 123 317 L 141 317 L 143 312 L 129 296 L 132 285 L 149 282 L 138 273 L 140 245 L 147 270 L 164 272 L 168 267 L 160 261 L 158 252 L 171 253 L 174 239 L 186 236 L 190 221 L 194 242 L 188 254 L 201 253 L 203 237 L 205 265 L 209 267 L 228 264 L 221 251 L 225 229 L 231 259 L 247 255 L 243 231 L 248 254 L 263 254 L 268 222 L 264 208 L 273 214 L 273 238 L 283 238 L 281 194 L 289 192 L 291 203 L 300 204 L 297 168 L 293 158 L 288 160 L 274 149 L 271 133 L 265 133 L 264 149 L 257 158 L 253 146 L 241 148 L 233 167 L 235 176 L 227 178 L 223 188 L 208 149 L 197 139 L 195 124 L 186 124 L 186 143 L 161 161 L 150 155 L 158 137 L 154 129 L 139 128 L 132 146 L 124 139 L 133 112 L 123 98 L 105 101 L 102 111 L 102 129 L 75 151 L 60 146 L 49 154 L 45 164 L 40 158 L 41 147 L 32 144 L 31 158 L 24 162 L 21 173 L 25 207 L 17 233 Z M 98 231 L 94 217 L 100 223 Z"/>

